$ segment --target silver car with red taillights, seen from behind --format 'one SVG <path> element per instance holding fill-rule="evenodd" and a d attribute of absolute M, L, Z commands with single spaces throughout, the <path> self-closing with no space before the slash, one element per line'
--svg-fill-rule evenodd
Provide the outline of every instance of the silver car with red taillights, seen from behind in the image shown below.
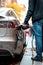
<path fill-rule="evenodd" d="M 19 19 L 12 8 L 0 8 L 0 56 L 20 56 L 26 43 L 24 30 L 17 30 Z"/>

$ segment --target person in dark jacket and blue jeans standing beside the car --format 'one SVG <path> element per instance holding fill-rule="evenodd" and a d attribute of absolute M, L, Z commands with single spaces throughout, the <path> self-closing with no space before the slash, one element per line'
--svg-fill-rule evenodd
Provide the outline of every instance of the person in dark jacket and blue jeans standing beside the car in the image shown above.
<path fill-rule="evenodd" d="M 33 34 L 36 42 L 36 56 L 31 59 L 34 61 L 42 61 L 42 25 L 43 25 L 43 0 L 29 0 L 28 11 L 23 23 L 26 27 L 30 17 L 32 17 Z"/>

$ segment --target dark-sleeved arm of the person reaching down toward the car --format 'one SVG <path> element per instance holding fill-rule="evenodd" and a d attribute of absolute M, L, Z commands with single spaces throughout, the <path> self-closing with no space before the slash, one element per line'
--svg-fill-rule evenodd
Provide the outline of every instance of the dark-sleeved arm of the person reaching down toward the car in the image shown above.
<path fill-rule="evenodd" d="M 35 1 L 36 0 L 29 0 L 29 2 L 28 2 L 28 11 L 26 14 L 26 18 L 24 20 L 24 24 L 28 24 L 28 21 L 34 12 L 35 3 L 36 3 Z"/>

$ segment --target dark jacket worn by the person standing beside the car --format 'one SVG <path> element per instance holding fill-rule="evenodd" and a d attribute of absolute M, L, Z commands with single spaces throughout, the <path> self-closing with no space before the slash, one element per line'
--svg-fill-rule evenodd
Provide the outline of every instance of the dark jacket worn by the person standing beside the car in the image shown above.
<path fill-rule="evenodd" d="M 28 23 L 28 20 L 32 16 L 32 21 L 43 19 L 43 0 L 29 0 L 29 6 L 24 23 Z"/>

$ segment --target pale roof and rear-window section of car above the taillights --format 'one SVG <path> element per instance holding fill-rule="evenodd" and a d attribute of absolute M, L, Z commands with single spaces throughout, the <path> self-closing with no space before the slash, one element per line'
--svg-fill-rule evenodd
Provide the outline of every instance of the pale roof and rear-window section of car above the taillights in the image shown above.
<path fill-rule="evenodd" d="M 6 13 L 10 12 L 10 11 L 12 11 L 14 13 L 15 17 L 6 15 Z M 0 20 L 8 20 L 8 19 L 9 20 L 17 20 L 18 19 L 15 11 L 12 8 L 0 8 Z"/>

